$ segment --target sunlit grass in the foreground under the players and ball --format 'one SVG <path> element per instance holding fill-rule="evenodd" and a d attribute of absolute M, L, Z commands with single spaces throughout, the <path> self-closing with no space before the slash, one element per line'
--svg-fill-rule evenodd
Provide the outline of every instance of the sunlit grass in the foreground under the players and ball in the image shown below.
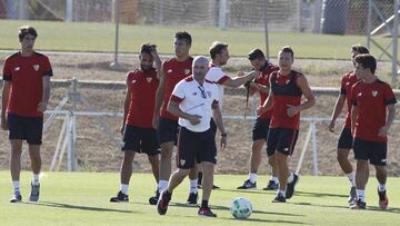
<path fill-rule="evenodd" d="M 197 208 L 183 205 L 188 181 L 176 190 L 166 216 L 159 216 L 148 204 L 154 184 L 150 175 L 133 175 L 130 203 L 111 204 L 110 196 L 119 189 L 118 174 L 44 173 L 40 202 L 10 204 L 11 183 L 8 171 L 0 171 L 1 225 L 393 225 L 400 216 L 399 178 L 389 178 L 389 209 L 378 208 L 376 179 L 367 188 L 367 210 L 347 206 L 348 181 L 336 177 L 302 177 L 297 193 L 287 204 L 272 204 L 274 191 L 261 189 L 239 191 L 234 188 L 246 176 L 217 176 L 210 204 L 217 219 L 200 218 Z M 30 173 L 21 176 L 22 196 L 29 196 Z M 259 186 L 267 181 L 260 176 Z M 247 220 L 231 217 L 229 207 L 234 197 L 246 197 L 253 205 Z"/>

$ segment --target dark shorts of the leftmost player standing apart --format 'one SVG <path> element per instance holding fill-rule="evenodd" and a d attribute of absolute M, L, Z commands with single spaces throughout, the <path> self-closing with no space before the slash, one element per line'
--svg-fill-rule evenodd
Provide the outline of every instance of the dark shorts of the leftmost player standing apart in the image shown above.
<path fill-rule="evenodd" d="M 7 120 L 9 127 L 9 139 L 27 140 L 30 145 L 42 144 L 42 117 L 23 117 L 9 112 Z"/>

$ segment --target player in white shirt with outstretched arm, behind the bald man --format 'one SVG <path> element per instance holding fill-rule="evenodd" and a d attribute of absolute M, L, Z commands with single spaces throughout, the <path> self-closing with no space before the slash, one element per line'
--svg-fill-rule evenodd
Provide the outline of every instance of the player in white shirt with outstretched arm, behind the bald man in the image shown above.
<path fill-rule="evenodd" d="M 227 65 L 229 59 L 229 49 L 227 43 L 214 41 L 210 47 L 210 57 L 211 57 L 211 62 L 209 65 L 210 69 L 207 72 L 206 78 L 217 83 L 221 97 L 219 106 L 222 109 L 223 87 L 232 87 L 232 88 L 239 87 L 246 83 L 247 81 L 254 79 L 258 72 L 251 71 L 249 73 L 240 75 L 239 77 L 234 77 L 234 78 L 231 78 L 226 72 L 223 72 L 221 67 Z M 212 119 L 211 119 L 211 129 L 216 135 L 217 126 Z M 222 136 L 227 136 L 227 134 L 223 134 Z M 201 167 L 199 167 L 199 175 L 198 175 L 199 186 L 201 185 L 201 180 L 202 180 L 202 173 L 201 173 Z M 218 188 L 218 187 L 213 185 L 213 188 Z"/>

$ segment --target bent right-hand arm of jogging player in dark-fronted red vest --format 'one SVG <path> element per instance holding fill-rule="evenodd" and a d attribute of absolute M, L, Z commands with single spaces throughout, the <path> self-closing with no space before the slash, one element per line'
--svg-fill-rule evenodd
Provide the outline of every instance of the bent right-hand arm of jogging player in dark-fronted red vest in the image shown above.
<path fill-rule="evenodd" d="M 292 106 L 288 105 L 288 116 L 292 117 L 299 114 L 302 110 L 309 109 L 312 106 L 316 105 L 316 97 L 306 79 L 304 76 L 299 76 L 299 78 L 296 80 L 297 86 L 301 89 L 301 92 L 306 97 L 306 101 L 299 106 Z"/>

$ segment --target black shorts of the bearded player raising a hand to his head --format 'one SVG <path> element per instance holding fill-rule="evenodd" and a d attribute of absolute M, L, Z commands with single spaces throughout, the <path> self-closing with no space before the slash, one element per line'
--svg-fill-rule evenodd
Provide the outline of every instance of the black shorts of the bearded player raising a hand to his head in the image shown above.
<path fill-rule="evenodd" d="M 156 129 L 126 126 L 122 150 L 133 150 L 154 156 L 160 153 Z"/>

